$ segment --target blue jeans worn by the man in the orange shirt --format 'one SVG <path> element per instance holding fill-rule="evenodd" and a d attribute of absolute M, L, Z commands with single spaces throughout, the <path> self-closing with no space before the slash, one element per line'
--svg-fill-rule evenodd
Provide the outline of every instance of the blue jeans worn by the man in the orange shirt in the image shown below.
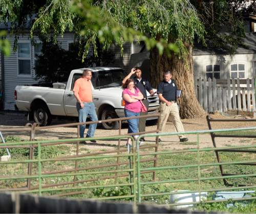
<path fill-rule="evenodd" d="M 83 103 L 84 107 L 81 108 L 80 103 L 76 103 L 76 109 L 78 111 L 79 123 L 86 122 L 87 116 L 91 121 L 97 121 L 98 117 L 95 111 L 95 106 L 93 102 Z M 87 137 L 93 137 L 97 124 L 90 124 L 87 132 Z M 80 137 L 84 137 L 84 130 L 86 130 L 86 125 L 80 125 Z"/>

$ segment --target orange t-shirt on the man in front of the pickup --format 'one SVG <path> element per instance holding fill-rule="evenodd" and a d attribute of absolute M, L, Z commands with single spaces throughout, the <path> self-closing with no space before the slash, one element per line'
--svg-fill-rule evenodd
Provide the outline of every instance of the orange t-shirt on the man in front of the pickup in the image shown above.
<path fill-rule="evenodd" d="M 73 91 L 78 92 L 79 98 L 82 102 L 93 101 L 91 81 L 87 81 L 84 78 L 77 79 Z"/>

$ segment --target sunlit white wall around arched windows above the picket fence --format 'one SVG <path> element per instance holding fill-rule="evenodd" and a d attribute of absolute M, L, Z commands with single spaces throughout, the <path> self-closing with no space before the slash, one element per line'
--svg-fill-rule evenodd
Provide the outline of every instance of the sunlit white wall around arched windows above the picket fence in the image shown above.
<path fill-rule="evenodd" d="M 235 55 L 196 55 L 193 56 L 194 75 L 196 78 L 206 78 L 206 65 L 220 65 L 220 79 L 230 78 L 231 64 L 245 64 L 245 79 L 253 78 L 255 73 L 254 62 L 256 54 Z"/>

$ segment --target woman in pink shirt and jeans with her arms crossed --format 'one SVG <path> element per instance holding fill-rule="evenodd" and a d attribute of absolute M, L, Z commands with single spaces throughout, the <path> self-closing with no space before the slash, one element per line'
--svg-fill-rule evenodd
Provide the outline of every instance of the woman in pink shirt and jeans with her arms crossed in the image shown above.
<path fill-rule="evenodd" d="M 124 114 L 126 117 L 139 116 L 141 111 L 140 100 L 143 99 L 143 94 L 140 90 L 134 87 L 134 80 L 127 79 L 123 84 L 122 98 L 125 101 Z M 128 133 L 137 133 L 139 118 L 127 120 L 128 122 Z M 135 139 L 138 135 L 133 136 Z M 127 144 L 131 145 L 131 139 L 127 140 Z"/>

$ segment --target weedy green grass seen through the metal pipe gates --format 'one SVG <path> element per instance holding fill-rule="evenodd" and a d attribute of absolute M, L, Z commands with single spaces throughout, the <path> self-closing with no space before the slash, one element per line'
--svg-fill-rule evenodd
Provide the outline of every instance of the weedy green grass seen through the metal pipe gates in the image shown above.
<path fill-rule="evenodd" d="M 7 141 L 15 141 L 15 137 L 10 137 Z M 187 142 L 187 145 L 191 145 L 188 143 L 196 144 L 196 142 Z M 184 143 L 183 143 L 184 144 Z M 146 145 L 146 144 L 145 144 Z M 144 146 L 144 145 L 143 145 Z M 90 148 L 90 147 L 89 147 Z M 12 160 L 20 160 L 20 159 L 27 159 L 28 153 L 21 152 L 22 149 L 17 150 L 16 152 L 12 151 Z M 42 156 L 44 158 L 52 158 L 52 157 L 60 157 L 60 156 L 67 156 L 73 154 L 76 147 L 74 145 L 58 145 L 58 146 L 49 146 L 49 147 L 42 147 Z M 26 149 L 27 150 L 27 149 Z M 88 148 L 80 148 L 82 153 L 90 153 Z M 102 149 L 101 151 L 105 151 Z M 153 149 L 144 149 L 142 152 L 144 154 L 148 154 L 152 152 Z M 169 150 L 165 150 L 169 151 Z M 1 151 L 0 151 L 1 152 Z M 93 152 L 91 152 L 93 153 Z M 44 154 L 44 155 L 43 155 Z M 125 154 L 125 153 L 123 153 Z M 242 155 L 238 155 L 238 153 L 233 152 L 220 152 L 221 160 L 224 161 L 246 161 L 246 160 L 254 160 L 255 161 L 255 154 L 252 153 L 242 153 Z M 106 155 L 105 155 L 106 156 Z M 35 158 L 36 152 L 35 152 Z M 152 158 L 152 156 L 141 156 L 141 160 L 146 160 L 148 158 Z M 155 194 L 155 193 L 167 193 L 164 196 L 149 196 L 143 197 L 143 202 L 153 202 L 157 204 L 169 204 L 169 192 L 175 191 L 177 189 L 188 189 L 193 191 L 198 191 L 199 183 L 198 181 L 186 181 L 186 182 L 170 182 L 176 181 L 178 179 L 188 179 L 188 178 L 197 178 L 198 177 L 198 168 L 182 168 L 182 165 L 185 164 L 196 164 L 200 160 L 201 163 L 216 163 L 216 154 L 215 152 L 201 152 L 200 158 L 198 159 L 198 154 L 192 152 L 186 152 L 179 154 L 168 154 L 168 155 L 158 155 L 158 167 L 166 167 L 166 166 L 177 166 L 177 169 L 172 170 L 159 170 L 157 171 L 157 181 L 169 181 L 162 184 L 148 184 L 142 185 L 141 191 L 142 194 Z M 95 186 L 95 185 L 102 185 L 104 187 L 99 188 L 91 188 L 91 189 L 84 189 L 83 193 L 69 196 L 72 198 L 100 198 L 100 197 L 110 197 L 110 196 L 125 196 L 130 195 L 130 187 L 123 186 L 123 187 L 108 187 L 108 185 L 114 184 L 127 184 L 130 182 L 129 176 L 118 178 L 116 181 L 112 178 L 106 178 L 106 176 L 114 176 L 114 173 L 106 173 L 103 175 L 95 175 L 93 174 L 95 171 L 109 171 L 109 170 L 116 170 L 116 166 L 111 167 L 104 167 L 105 164 L 115 164 L 116 158 L 102 158 L 102 159 L 90 159 L 90 160 L 79 160 L 77 161 L 78 168 L 85 168 L 83 171 L 79 172 L 90 172 L 89 175 L 79 175 L 74 178 L 74 176 L 67 176 L 67 177 L 53 177 L 53 178 L 44 178 L 43 185 L 45 184 L 56 184 L 62 182 L 71 182 L 74 179 L 79 180 L 90 180 L 94 179 L 93 181 L 87 181 L 84 183 L 75 184 L 78 187 L 76 191 L 81 191 L 79 187 L 83 186 Z M 120 157 L 119 162 L 127 162 L 127 157 Z M 92 166 L 97 166 L 96 169 L 89 169 Z M 153 167 L 153 161 L 145 161 L 141 162 L 141 168 L 149 168 Z M 27 167 L 28 164 L 0 164 L 0 171 L 2 172 L 2 176 L 13 176 L 13 175 L 26 175 L 27 174 Z M 54 161 L 54 162 L 44 162 L 42 163 L 42 172 L 54 172 L 57 170 L 73 170 L 75 167 L 74 161 Z M 87 169 L 86 169 L 87 168 Z M 125 170 L 129 169 L 129 165 L 121 165 L 118 167 L 118 170 Z M 253 166 L 242 166 L 242 165 L 226 165 L 223 167 L 225 173 L 230 174 L 252 174 L 255 173 L 255 167 Z M 33 163 L 32 172 L 37 174 L 38 165 Z M 122 174 L 122 173 L 121 173 Z M 119 174 L 120 175 L 120 174 Z M 209 167 L 201 167 L 200 168 L 200 176 L 201 177 L 217 177 L 220 176 L 220 169 L 218 166 L 209 166 Z M 152 180 L 152 173 L 142 174 L 141 175 L 141 182 L 147 182 Z M 247 183 L 255 185 L 256 179 L 255 178 L 237 178 L 237 179 L 228 179 L 228 182 L 233 183 L 235 186 L 241 183 Z M 26 185 L 26 179 L 18 179 L 18 180 L 0 180 L 0 187 L 1 188 L 16 188 L 16 187 L 23 187 Z M 136 182 L 136 181 L 135 181 Z M 37 179 L 32 179 L 32 186 L 38 185 Z M 62 185 L 58 187 L 73 187 L 72 185 Z M 52 187 L 52 191 L 50 193 L 44 193 L 44 195 L 56 195 L 62 193 L 68 193 L 70 191 L 54 191 L 55 187 Z M 200 189 L 210 189 L 210 188 L 223 188 L 223 180 L 216 179 L 216 180 L 205 180 L 200 182 Z M 129 200 L 129 199 L 123 199 Z M 246 202 L 247 203 L 247 202 Z M 211 203 L 206 204 L 202 203 L 196 206 L 196 209 L 202 209 L 207 211 L 219 210 L 219 211 L 228 211 L 228 212 L 255 212 L 256 210 L 256 201 L 251 201 L 248 205 L 244 206 L 241 203 L 234 203 L 233 207 L 226 208 L 227 203 Z"/>

